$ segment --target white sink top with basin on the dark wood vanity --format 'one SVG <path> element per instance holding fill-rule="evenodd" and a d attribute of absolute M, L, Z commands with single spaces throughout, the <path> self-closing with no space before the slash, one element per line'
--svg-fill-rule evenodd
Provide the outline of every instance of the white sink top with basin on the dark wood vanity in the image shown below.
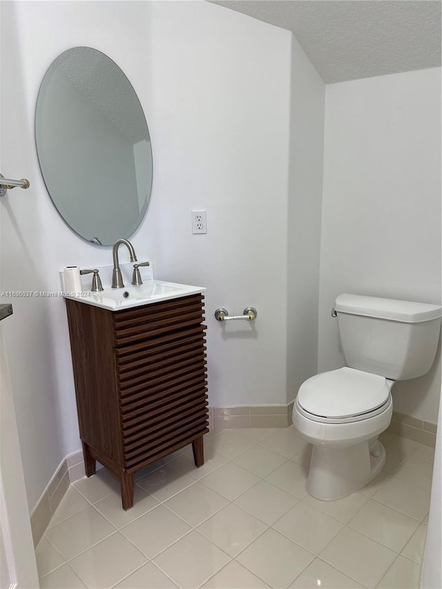
<path fill-rule="evenodd" d="M 106 288 L 99 293 L 83 291 L 76 296 L 66 296 L 72 300 L 84 302 L 86 305 L 102 307 L 110 311 L 141 307 L 153 302 L 189 296 L 206 291 L 204 287 L 194 287 L 189 284 L 177 284 L 177 282 L 164 282 L 164 280 L 148 280 L 140 286 L 128 286 L 122 289 Z"/>

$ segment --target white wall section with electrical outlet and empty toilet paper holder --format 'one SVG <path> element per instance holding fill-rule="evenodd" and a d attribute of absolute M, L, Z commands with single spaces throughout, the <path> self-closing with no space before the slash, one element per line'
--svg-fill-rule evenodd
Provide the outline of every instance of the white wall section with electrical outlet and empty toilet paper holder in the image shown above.
<path fill-rule="evenodd" d="M 208 288 L 211 405 L 285 403 L 275 310 L 287 300 L 291 35 L 220 6 L 173 4 L 155 3 L 148 33 L 155 273 Z M 206 209 L 207 235 L 191 235 L 192 209 Z M 213 317 L 249 305 L 254 324 Z"/>

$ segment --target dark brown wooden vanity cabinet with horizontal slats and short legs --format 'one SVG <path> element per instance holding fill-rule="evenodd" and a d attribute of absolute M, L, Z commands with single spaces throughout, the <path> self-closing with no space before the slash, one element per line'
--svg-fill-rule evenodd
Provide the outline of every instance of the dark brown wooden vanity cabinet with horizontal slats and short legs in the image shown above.
<path fill-rule="evenodd" d="M 209 431 L 201 294 L 109 311 L 66 298 L 86 476 L 99 461 L 133 505 L 133 475 Z"/>

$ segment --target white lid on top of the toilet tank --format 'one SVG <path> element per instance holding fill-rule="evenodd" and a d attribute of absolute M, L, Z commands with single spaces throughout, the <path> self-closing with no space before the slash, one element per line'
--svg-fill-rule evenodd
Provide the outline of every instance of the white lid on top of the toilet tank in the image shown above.
<path fill-rule="evenodd" d="M 430 321 L 442 316 L 442 307 L 439 305 L 347 293 L 340 294 L 336 298 L 334 309 L 337 313 L 350 313 L 405 323 Z"/>

